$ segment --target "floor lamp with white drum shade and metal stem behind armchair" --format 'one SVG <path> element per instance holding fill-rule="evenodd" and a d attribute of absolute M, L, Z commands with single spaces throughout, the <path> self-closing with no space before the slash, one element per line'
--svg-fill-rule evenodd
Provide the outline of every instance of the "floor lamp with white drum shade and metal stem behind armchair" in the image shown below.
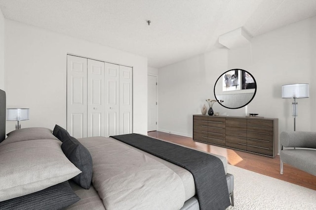
<path fill-rule="evenodd" d="M 282 98 L 293 98 L 292 115 L 294 117 L 294 131 L 296 130 L 297 102 L 296 98 L 310 97 L 309 84 L 290 84 L 282 86 Z"/>

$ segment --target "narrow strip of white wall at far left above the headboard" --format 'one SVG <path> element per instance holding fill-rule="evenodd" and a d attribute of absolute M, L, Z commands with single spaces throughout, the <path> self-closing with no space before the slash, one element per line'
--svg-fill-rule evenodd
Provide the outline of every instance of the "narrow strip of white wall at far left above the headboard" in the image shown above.
<path fill-rule="evenodd" d="M 4 17 L 0 9 L 0 89 L 4 90 Z"/>

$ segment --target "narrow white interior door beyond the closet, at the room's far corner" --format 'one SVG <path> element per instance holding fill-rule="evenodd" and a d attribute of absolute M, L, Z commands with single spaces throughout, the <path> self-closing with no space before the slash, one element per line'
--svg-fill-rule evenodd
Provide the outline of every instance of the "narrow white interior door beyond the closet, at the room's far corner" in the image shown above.
<path fill-rule="evenodd" d="M 157 77 L 148 75 L 148 131 L 157 130 Z"/>

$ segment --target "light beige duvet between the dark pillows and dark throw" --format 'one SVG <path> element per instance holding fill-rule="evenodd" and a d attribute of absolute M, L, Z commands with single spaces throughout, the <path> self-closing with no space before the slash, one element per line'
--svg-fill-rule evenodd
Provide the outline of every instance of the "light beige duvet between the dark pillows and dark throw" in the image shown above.
<path fill-rule="evenodd" d="M 79 141 L 91 153 L 92 183 L 107 210 L 178 210 L 186 201 L 184 182 L 190 178 L 180 178 L 149 155 L 112 138 Z M 179 168 L 175 170 L 185 175 Z"/>

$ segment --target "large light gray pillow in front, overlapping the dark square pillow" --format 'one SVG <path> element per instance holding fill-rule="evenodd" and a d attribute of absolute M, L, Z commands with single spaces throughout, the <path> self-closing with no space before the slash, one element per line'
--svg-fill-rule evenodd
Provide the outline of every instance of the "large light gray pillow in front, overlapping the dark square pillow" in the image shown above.
<path fill-rule="evenodd" d="M 77 176 L 56 140 L 29 140 L 0 146 L 0 202 L 40 191 Z"/>

